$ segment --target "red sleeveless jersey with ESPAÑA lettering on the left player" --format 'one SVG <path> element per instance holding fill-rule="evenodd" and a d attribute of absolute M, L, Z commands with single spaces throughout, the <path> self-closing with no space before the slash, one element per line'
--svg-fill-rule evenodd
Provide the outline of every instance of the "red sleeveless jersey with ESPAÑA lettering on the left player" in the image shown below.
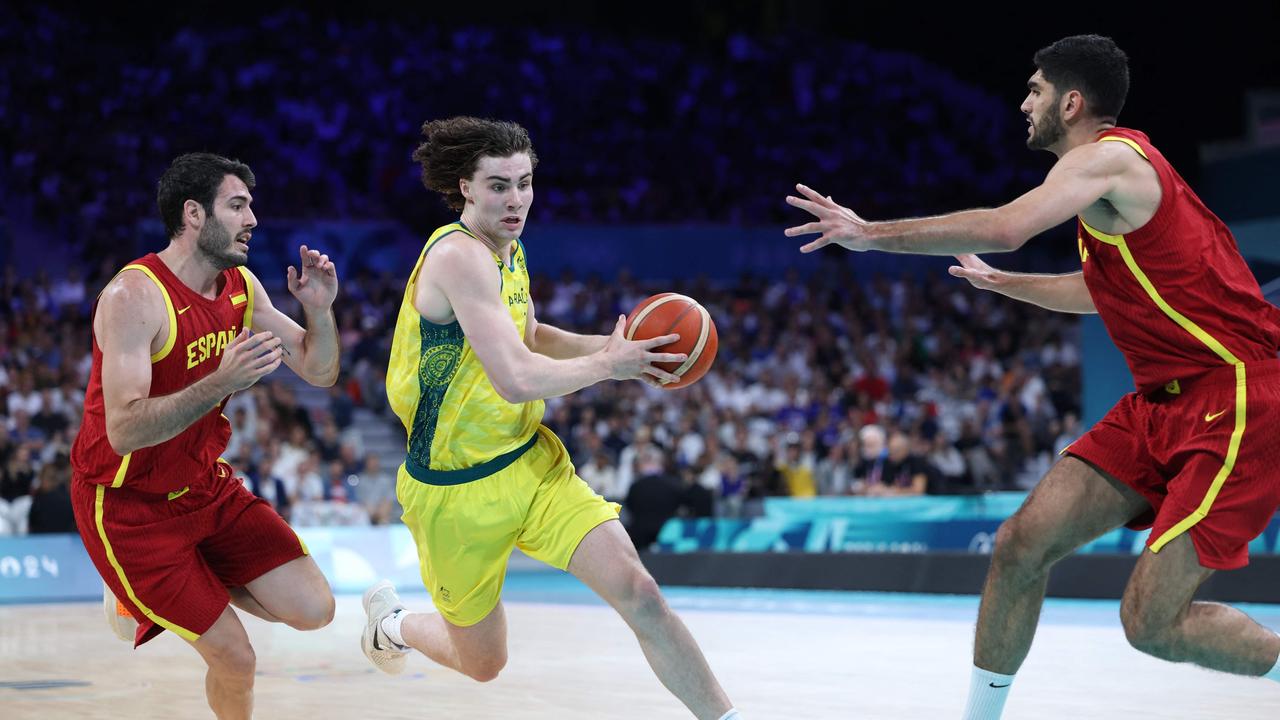
<path fill-rule="evenodd" d="M 124 270 L 140 270 L 151 278 L 164 295 L 169 315 L 168 340 L 151 356 L 148 397 L 178 392 L 216 370 L 223 348 L 241 328 L 252 327 L 253 287 L 243 269 L 223 270 L 221 290 L 214 300 L 183 284 L 154 252 L 125 265 Z M 72 446 L 76 479 L 160 493 L 180 491 L 210 477 L 210 468 L 232 434 L 230 423 L 221 413 L 228 398 L 173 438 L 120 457 L 106 439 L 102 350 L 95 333 L 84 419 Z"/>

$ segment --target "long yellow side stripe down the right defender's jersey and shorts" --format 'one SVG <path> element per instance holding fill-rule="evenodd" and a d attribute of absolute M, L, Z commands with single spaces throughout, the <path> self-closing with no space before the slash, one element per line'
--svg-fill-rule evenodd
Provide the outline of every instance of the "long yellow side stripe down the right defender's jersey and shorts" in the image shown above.
<path fill-rule="evenodd" d="M 1117 137 L 1114 140 L 1124 140 L 1124 138 Z M 1142 150 L 1139 149 L 1139 152 L 1140 151 Z M 1213 501 L 1217 500 L 1217 493 L 1222 489 L 1222 484 L 1226 483 L 1226 478 L 1231 474 L 1231 470 L 1235 469 L 1235 460 L 1240 454 L 1240 442 L 1244 438 L 1245 415 L 1248 411 L 1248 391 L 1245 388 L 1244 363 L 1240 361 L 1240 359 L 1236 357 L 1230 350 L 1228 350 L 1226 346 L 1219 342 L 1217 338 L 1204 332 L 1204 328 L 1197 325 L 1196 322 L 1188 318 L 1187 315 L 1183 315 L 1178 310 L 1174 310 L 1174 307 L 1169 305 L 1169 302 L 1166 302 L 1164 297 L 1160 296 L 1160 292 L 1156 290 L 1156 286 L 1151 282 L 1151 278 L 1148 278 L 1147 273 L 1142 272 L 1142 268 L 1138 266 L 1138 261 L 1134 259 L 1133 252 L 1129 250 L 1129 243 L 1125 242 L 1123 234 L 1107 234 L 1096 231 L 1091 228 L 1084 222 L 1083 218 L 1080 219 L 1080 224 L 1084 225 L 1084 229 L 1088 231 L 1089 234 L 1092 234 L 1093 237 L 1098 238 L 1100 241 L 1107 245 L 1115 246 L 1116 250 L 1120 251 L 1120 258 L 1124 259 L 1125 266 L 1128 266 L 1129 272 L 1133 273 L 1134 279 L 1138 281 L 1138 284 L 1142 286 L 1142 290 L 1147 292 L 1147 297 L 1149 297 L 1152 302 L 1155 302 L 1156 306 L 1160 307 L 1160 310 L 1169 316 L 1170 320 L 1172 320 L 1174 323 L 1178 324 L 1178 327 L 1190 333 L 1192 337 L 1204 343 L 1204 346 L 1212 350 L 1215 355 L 1221 357 L 1224 363 L 1235 368 L 1235 428 L 1231 430 L 1231 439 L 1228 442 L 1226 446 L 1226 457 L 1222 461 L 1222 466 L 1213 477 L 1213 482 L 1210 484 L 1208 492 L 1204 493 L 1204 498 L 1201 500 L 1199 506 L 1197 506 L 1190 515 L 1183 518 L 1180 521 L 1178 521 L 1174 527 L 1165 530 L 1158 538 L 1156 538 L 1151 543 L 1151 551 L 1160 552 L 1160 550 L 1166 544 L 1169 544 L 1170 541 L 1185 533 L 1188 529 L 1196 525 L 1196 523 L 1199 523 L 1201 520 L 1204 519 L 1206 515 L 1208 515 L 1210 509 L 1213 506 Z"/>

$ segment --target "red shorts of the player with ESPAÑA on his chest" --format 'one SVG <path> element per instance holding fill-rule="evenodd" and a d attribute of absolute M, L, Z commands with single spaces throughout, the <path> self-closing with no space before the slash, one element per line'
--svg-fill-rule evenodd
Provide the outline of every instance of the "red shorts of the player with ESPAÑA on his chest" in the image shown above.
<path fill-rule="evenodd" d="M 93 565 L 138 620 L 134 647 L 164 630 L 195 642 L 230 602 L 227 588 L 307 552 L 224 462 L 168 495 L 77 478 L 72 505 Z"/>

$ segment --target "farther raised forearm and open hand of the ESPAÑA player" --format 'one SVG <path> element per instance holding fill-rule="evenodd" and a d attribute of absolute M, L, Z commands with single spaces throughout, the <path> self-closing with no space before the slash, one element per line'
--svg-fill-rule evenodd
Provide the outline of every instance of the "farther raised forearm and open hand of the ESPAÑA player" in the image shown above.
<path fill-rule="evenodd" d="M 310 384 L 329 387 L 338 382 L 338 360 L 342 348 L 338 325 L 333 318 L 333 301 L 338 293 L 338 273 L 328 255 L 307 246 L 298 249 L 302 272 L 288 269 L 289 292 L 302 305 L 306 329 L 280 313 L 271 304 L 262 283 L 253 279 L 253 327 L 284 342 L 284 364 Z M 247 268 L 246 268 L 247 270 Z"/>

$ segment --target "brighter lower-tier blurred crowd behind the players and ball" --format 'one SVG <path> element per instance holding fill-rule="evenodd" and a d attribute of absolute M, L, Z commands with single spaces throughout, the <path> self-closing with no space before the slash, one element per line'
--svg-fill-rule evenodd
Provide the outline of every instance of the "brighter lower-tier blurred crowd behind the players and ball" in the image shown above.
<path fill-rule="evenodd" d="M 676 291 L 699 299 L 719 332 L 712 372 L 689 388 L 609 382 L 548 401 L 545 423 L 579 474 L 643 524 L 750 514 L 767 496 L 1027 488 L 1075 439 L 1070 316 L 952 278 L 859 283 L 847 265 L 823 268 L 727 284 L 535 275 L 544 323 L 603 333 L 620 311 Z M 73 528 L 67 457 L 90 370 L 88 311 L 106 279 L 10 269 L 0 284 L 0 532 Z M 361 274 L 344 284 L 333 388 L 282 369 L 227 407 L 224 456 L 296 524 L 398 521 L 403 434 L 384 382 L 402 283 Z M 393 441 L 367 447 L 375 436 Z"/>

